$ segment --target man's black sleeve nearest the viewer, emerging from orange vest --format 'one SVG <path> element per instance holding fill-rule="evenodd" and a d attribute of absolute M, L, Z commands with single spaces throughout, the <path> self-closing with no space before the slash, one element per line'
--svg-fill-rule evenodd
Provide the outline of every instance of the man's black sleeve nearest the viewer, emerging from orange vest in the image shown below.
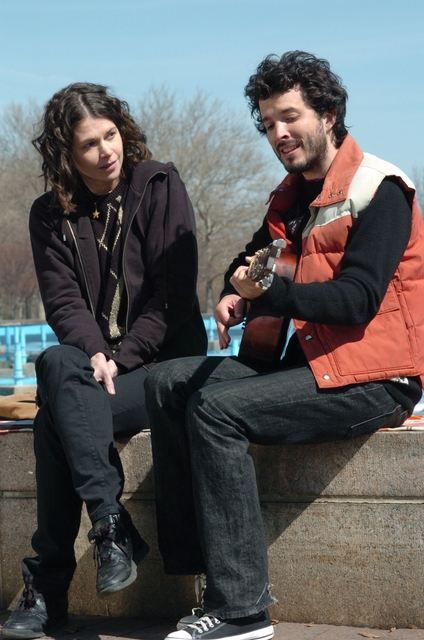
<path fill-rule="evenodd" d="M 396 180 L 385 179 L 352 225 L 337 280 L 302 284 L 274 278 L 252 304 L 309 322 L 369 322 L 405 252 L 411 224 L 405 193 Z"/>

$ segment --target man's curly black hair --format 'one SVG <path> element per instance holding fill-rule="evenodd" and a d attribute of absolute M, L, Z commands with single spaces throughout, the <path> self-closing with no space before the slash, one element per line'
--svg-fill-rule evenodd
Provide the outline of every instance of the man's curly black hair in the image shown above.
<path fill-rule="evenodd" d="M 327 60 L 316 58 L 306 51 L 288 51 L 281 58 L 267 56 L 250 76 L 244 89 L 252 118 L 259 133 L 266 134 L 262 123 L 259 101 L 277 93 L 299 87 L 305 103 L 320 116 L 336 113 L 332 132 L 338 148 L 347 136 L 344 123 L 347 91 L 342 80 L 330 69 Z"/>

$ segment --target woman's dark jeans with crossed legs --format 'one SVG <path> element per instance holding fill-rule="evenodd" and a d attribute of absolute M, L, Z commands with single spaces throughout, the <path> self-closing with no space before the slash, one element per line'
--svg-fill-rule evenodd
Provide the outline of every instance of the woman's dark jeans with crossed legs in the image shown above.
<path fill-rule="evenodd" d="M 88 356 L 70 346 L 50 347 L 36 362 L 41 406 L 34 421 L 38 528 L 35 558 L 23 570 L 45 596 L 66 594 L 75 571 L 74 542 L 85 502 L 94 523 L 121 513 L 124 473 L 114 434 L 148 427 L 143 368 L 114 378 L 110 396 L 93 377 Z"/>

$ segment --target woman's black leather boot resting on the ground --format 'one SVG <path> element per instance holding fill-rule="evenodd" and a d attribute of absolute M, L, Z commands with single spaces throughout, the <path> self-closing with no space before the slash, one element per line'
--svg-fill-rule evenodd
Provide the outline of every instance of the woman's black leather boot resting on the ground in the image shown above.
<path fill-rule="evenodd" d="M 36 591 L 32 576 L 25 581 L 25 589 L 18 604 L 3 625 L 3 638 L 41 638 L 65 625 L 68 621 L 67 597 L 49 601 L 46 607 L 44 596 Z"/>

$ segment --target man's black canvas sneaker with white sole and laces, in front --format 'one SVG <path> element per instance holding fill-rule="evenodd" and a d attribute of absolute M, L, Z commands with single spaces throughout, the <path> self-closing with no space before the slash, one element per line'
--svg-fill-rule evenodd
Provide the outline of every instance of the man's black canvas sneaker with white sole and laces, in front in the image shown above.
<path fill-rule="evenodd" d="M 180 631 L 173 631 L 166 640 L 269 640 L 274 629 L 268 611 L 257 616 L 220 620 L 204 615 L 197 622 L 189 624 Z"/>

